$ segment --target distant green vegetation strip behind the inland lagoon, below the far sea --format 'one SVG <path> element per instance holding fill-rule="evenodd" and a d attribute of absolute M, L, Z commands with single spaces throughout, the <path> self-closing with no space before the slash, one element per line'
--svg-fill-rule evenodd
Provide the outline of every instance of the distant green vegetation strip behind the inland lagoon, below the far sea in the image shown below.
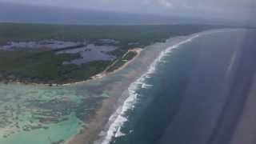
<path fill-rule="evenodd" d="M 177 35 L 192 34 L 213 26 L 65 26 L 46 24 L 0 23 L 0 42 L 38 41 L 55 39 L 63 41 L 95 41 L 102 38 L 123 43 L 138 42 L 147 46 L 156 41 Z"/>

